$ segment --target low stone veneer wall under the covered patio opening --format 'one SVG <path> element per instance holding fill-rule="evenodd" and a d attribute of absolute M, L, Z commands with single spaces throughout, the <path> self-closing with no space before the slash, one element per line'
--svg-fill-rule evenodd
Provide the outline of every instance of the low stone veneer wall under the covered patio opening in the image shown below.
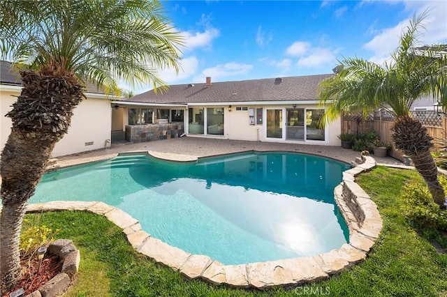
<path fill-rule="evenodd" d="M 126 125 L 126 140 L 128 142 L 151 142 L 177 138 L 183 132 L 183 123 Z"/>

